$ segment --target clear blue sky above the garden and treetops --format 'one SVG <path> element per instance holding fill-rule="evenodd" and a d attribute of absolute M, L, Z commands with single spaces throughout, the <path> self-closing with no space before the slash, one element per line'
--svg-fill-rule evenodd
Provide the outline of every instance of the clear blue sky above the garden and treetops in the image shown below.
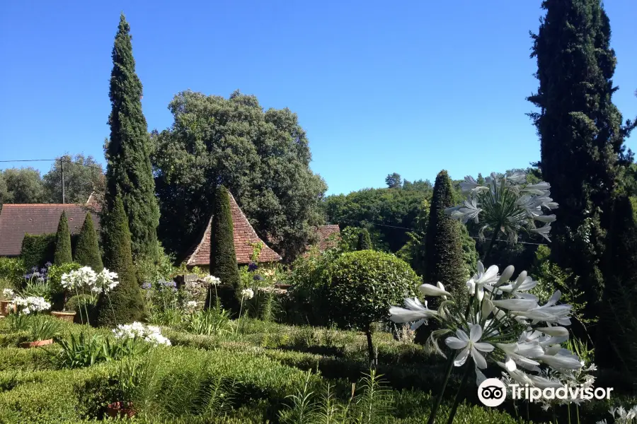
<path fill-rule="evenodd" d="M 239 89 L 299 114 L 330 194 L 383 187 L 391 172 L 433 180 L 443 168 L 461 178 L 526 167 L 539 159 L 524 98 L 537 87 L 529 30 L 540 4 L 6 1 L 0 160 L 83 152 L 103 163 L 110 52 L 124 11 L 149 129 L 171 125 L 166 107 L 181 90 Z M 634 118 L 637 4 L 606 8 L 619 61 L 614 101 Z M 637 136 L 628 146 L 637 151 Z"/>

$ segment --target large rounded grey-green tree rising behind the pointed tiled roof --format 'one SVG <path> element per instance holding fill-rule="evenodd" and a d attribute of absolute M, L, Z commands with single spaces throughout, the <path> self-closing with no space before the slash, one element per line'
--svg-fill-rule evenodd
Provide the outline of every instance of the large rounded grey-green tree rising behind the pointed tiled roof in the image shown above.
<path fill-rule="evenodd" d="M 173 125 L 153 136 L 163 245 L 179 255 L 196 242 L 223 184 L 258 235 L 293 259 L 323 222 L 327 189 L 309 167 L 297 115 L 264 112 L 255 96 L 238 91 L 228 99 L 185 91 L 169 109 Z"/>

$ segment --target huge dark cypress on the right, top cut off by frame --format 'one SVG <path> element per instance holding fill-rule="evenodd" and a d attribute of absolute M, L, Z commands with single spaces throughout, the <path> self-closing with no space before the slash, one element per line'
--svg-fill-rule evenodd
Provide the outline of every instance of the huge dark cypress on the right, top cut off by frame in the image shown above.
<path fill-rule="evenodd" d="M 592 316 L 602 298 L 602 257 L 619 165 L 625 159 L 621 114 L 611 97 L 616 59 L 599 0 L 544 0 L 532 35 L 539 88 L 529 100 L 541 141 L 541 172 L 560 204 L 553 260 L 580 276 Z"/>

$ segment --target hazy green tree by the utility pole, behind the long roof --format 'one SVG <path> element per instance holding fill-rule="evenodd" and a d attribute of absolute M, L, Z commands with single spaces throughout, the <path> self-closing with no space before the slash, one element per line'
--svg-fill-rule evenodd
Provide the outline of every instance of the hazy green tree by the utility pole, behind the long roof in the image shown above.
<path fill-rule="evenodd" d="M 85 203 L 91 193 L 98 196 L 104 191 L 102 165 L 93 156 L 62 155 L 51 170 L 42 177 L 45 199 L 50 203 L 62 203 L 62 162 L 64 162 L 64 197 L 66 203 Z"/>

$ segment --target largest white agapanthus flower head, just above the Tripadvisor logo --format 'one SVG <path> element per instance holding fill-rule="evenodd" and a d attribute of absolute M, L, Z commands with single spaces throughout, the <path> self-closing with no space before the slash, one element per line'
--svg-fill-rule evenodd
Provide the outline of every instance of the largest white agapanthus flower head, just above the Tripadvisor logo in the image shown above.
<path fill-rule="evenodd" d="M 438 310 L 430 310 L 426 302 L 423 305 L 418 298 L 410 298 L 405 300 L 404 308 L 391 307 L 391 321 L 415 322 L 415 329 L 427 319 L 436 319 L 441 328 L 432 331 L 430 343 L 446 358 L 439 345 L 444 337 L 444 343 L 458 351 L 454 358 L 457 367 L 471 358 L 478 384 L 485 378 L 481 370 L 491 362 L 522 386 L 557 387 L 558 382 L 541 375 L 542 367 L 570 372 L 583 366 L 577 355 L 561 347 L 568 340 L 564 326 L 570 324 L 571 306 L 557 304 L 559 291 L 545 305 L 539 305 L 536 296 L 526 293 L 537 284 L 526 271 L 513 281 L 513 266 L 507 266 L 501 275 L 498 271 L 498 266 L 485 270 L 478 262 L 478 272 L 466 282 L 471 293 L 466 310 L 459 310 L 441 283 L 423 284 L 423 295 L 442 298 Z"/>

